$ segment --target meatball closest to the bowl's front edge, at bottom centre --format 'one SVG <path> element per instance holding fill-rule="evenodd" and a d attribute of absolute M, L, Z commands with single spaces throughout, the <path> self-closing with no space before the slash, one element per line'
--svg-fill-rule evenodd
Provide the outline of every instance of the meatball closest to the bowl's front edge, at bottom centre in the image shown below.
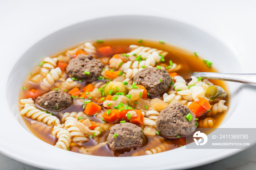
<path fill-rule="evenodd" d="M 144 141 L 142 128 L 132 123 L 120 123 L 112 126 L 107 138 L 111 150 L 139 147 L 143 145 Z"/>

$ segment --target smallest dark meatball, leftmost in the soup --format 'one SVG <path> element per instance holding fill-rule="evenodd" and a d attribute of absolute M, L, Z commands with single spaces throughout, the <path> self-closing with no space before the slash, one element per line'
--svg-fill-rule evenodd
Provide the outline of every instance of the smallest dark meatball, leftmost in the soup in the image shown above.
<path fill-rule="evenodd" d="M 61 90 L 52 90 L 35 100 L 39 106 L 48 111 L 61 111 L 72 104 L 72 98 Z"/>

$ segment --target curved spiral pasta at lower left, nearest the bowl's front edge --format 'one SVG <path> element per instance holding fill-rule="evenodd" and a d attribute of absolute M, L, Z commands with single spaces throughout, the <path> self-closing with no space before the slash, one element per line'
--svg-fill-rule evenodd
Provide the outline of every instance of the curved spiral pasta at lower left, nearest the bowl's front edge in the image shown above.
<path fill-rule="evenodd" d="M 58 141 L 55 144 L 56 147 L 68 150 L 71 143 L 71 135 L 64 128 L 56 128 L 52 131 L 52 135 L 55 136 Z"/>

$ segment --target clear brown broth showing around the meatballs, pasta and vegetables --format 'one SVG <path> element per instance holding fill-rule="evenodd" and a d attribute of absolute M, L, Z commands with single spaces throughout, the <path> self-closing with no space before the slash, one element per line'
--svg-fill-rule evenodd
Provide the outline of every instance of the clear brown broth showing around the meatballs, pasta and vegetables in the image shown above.
<path fill-rule="evenodd" d="M 129 45 L 152 47 L 152 48 L 156 48 L 158 50 L 167 51 L 168 54 L 165 57 L 164 63 L 169 65 L 169 60 L 172 60 L 173 63 L 181 64 L 182 67 L 180 70 L 177 71 L 177 73 L 180 76 L 184 77 L 184 79 L 189 78 L 193 72 L 217 72 L 217 70 L 213 66 L 211 66 L 211 67 L 206 66 L 206 63 L 204 63 L 202 61 L 202 58 L 196 57 L 193 52 L 181 49 L 176 46 L 167 45 L 165 43 L 154 42 L 151 40 L 143 40 L 143 42 L 139 43 L 138 40 L 135 40 L 135 39 L 113 39 L 113 40 L 109 39 L 109 40 L 104 40 L 104 42 L 102 42 L 102 43 L 94 43 L 93 45 L 97 49 L 100 47 L 104 47 L 104 46 L 111 46 L 112 48 L 115 48 L 116 50 L 113 51 L 112 54 L 108 55 L 109 58 L 111 58 L 116 53 L 130 52 Z M 72 49 L 75 49 L 75 47 L 69 48 L 69 50 L 72 50 Z M 61 52 L 57 55 L 53 55 L 52 57 L 57 57 L 60 54 L 65 55 L 66 51 L 67 50 L 64 50 L 63 52 Z M 95 57 L 99 58 L 99 59 L 102 58 L 99 53 L 96 53 Z M 25 93 L 28 90 L 30 90 L 32 88 L 40 89 L 39 84 L 32 83 L 29 81 L 29 78 L 31 76 L 38 74 L 39 72 L 40 72 L 40 66 L 37 66 L 31 71 L 32 74 L 27 76 L 27 78 L 23 84 L 23 86 L 26 87 L 26 89 L 22 90 L 20 92 L 20 95 L 19 95 L 20 99 L 26 98 Z M 214 85 L 221 86 L 223 89 L 225 89 L 228 92 L 227 87 L 223 81 L 214 80 L 211 82 L 214 83 Z M 84 82 L 78 82 L 78 83 L 80 84 L 80 88 L 83 88 L 85 86 Z M 56 87 L 55 84 L 53 84 L 52 89 L 55 87 Z M 227 95 L 225 100 L 227 101 L 225 105 L 228 106 L 229 105 L 229 95 Z M 214 103 L 212 103 L 212 104 L 214 104 Z M 22 107 L 20 105 L 19 105 L 19 107 L 20 107 L 20 109 L 22 109 Z M 55 116 L 59 117 L 59 119 L 61 120 L 62 114 L 60 114 L 60 113 L 73 112 L 73 111 L 75 111 L 75 112 L 82 111 L 83 112 L 83 108 L 81 106 L 75 106 L 73 104 L 72 106 L 68 107 L 67 109 L 64 109 L 63 111 L 53 113 L 53 114 Z M 217 128 L 221 124 L 225 115 L 226 115 L 226 112 L 217 113 L 214 116 L 212 116 L 210 113 L 206 113 L 205 115 L 199 117 L 198 122 L 200 122 L 200 120 L 203 120 L 207 117 L 211 117 L 212 119 L 215 120 L 214 127 L 212 127 L 212 128 Z M 41 139 L 49 144 L 52 144 L 52 145 L 54 145 L 57 142 L 57 139 L 55 139 L 50 134 L 50 132 L 52 131 L 52 127 L 49 127 L 43 123 L 36 123 L 36 122 L 38 122 L 37 120 L 32 120 L 31 118 L 27 118 L 25 116 L 23 116 L 23 119 L 24 119 L 27 127 L 29 127 L 29 129 L 31 130 L 31 132 L 35 136 L 37 136 L 39 139 Z M 90 120 L 102 123 L 102 121 L 100 119 L 96 118 L 95 116 L 91 116 Z M 63 123 L 63 122 L 61 122 L 61 123 Z M 202 125 L 199 123 L 198 127 L 202 128 Z M 95 146 L 97 146 L 97 144 L 99 142 L 105 141 L 107 135 L 108 135 L 108 131 L 105 131 L 105 133 L 102 133 L 101 136 L 99 138 L 96 138 L 95 140 L 93 138 L 89 138 L 90 140 L 88 142 L 84 142 L 82 144 L 82 146 L 84 146 L 85 148 L 95 147 Z M 150 149 L 158 147 L 158 149 L 161 148 L 161 151 L 167 151 L 167 150 L 172 150 L 172 149 L 180 147 L 180 146 L 184 146 L 185 142 L 186 142 L 185 138 L 165 139 L 165 138 L 162 138 L 161 136 L 146 136 L 146 139 L 147 139 L 147 142 L 142 147 L 137 147 L 137 148 L 135 147 L 135 148 L 131 148 L 130 150 L 113 152 L 108 148 L 108 146 L 105 145 L 105 146 L 99 147 L 97 149 L 92 149 L 91 154 L 98 155 L 98 156 L 109 156 L 109 157 L 113 157 L 113 156 L 125 157 L 125 156 L 145 155 L 146 150 L 150 150 Z M 80 152 L 79 147 L 80 146 L 78 144 L 73 143 L 72 146 L 70 147 L 70 150 L 74 151 L 74 152 Z"/>

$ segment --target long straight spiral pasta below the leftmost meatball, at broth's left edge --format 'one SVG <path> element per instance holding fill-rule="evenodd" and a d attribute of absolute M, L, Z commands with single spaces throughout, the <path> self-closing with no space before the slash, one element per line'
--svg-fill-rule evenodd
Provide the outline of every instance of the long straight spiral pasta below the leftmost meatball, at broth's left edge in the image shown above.
<path fill-rule="evenodd" d="M 34 106 L 30 106 L 29 104 L 25 104 L 25 108 L 20 111 L 20 115 L 26 115 L 27 117 L 31 117 L 34 120 L 42 121 L 45 124 L 51 126 L 54 123 L 60 122 L 60 120 L 56 116 L 52 116 L 49 113 L 45 113 L 35 108 Z"/>

